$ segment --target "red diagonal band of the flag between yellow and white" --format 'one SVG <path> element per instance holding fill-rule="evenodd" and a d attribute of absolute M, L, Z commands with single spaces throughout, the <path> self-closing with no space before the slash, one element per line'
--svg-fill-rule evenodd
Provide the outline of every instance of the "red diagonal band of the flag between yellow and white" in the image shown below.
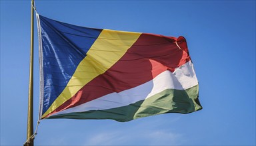
<path fill-rule="evenodd" d="M 113 92 L 134 88 L 152 80 L 165 70 L 173 72 L 175 68 L 190 60 L 185 38 L 177 40 L 182 44 L 182 50 L 177 46 L 176 40 L 177 38 L 173 37 L 143 33 L 107 72 L 83 86 L 75 96 L 49 115 Z"/>

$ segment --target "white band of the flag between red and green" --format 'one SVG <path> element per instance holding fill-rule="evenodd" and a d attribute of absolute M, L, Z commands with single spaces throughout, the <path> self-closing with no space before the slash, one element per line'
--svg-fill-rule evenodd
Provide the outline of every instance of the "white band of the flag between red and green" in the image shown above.
<path fill-rule="evenodd" d="M 111 93 L 97 98 L 85 104 L 65 109 L 53 115 L 63 113 L 83 112 L 89 110 L 103 110 L 128 106 L 140 100 L 145 100 L 163 90 L 176 89 L 186 90 L 198 84 L 193 64 L 191 61 L 176 68 L 172 73 L 168 70 L 156 76 L 153 80 L 141 84 L 135 88 L 124 90 L 119 93 Z"/>

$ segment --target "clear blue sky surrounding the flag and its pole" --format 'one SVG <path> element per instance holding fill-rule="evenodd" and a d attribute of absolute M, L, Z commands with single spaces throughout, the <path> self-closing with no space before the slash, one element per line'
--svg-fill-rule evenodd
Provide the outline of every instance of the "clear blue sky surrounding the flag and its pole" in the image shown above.
<path fill-rule="evenodd" d="M 27 129 L 30 1 L 1 0 L 1 143 Z M 35 145 L 256 145 L 255 1 L 35 1 L 45 17 L 99 29 L 185 36 L 201 111 L 120 123 L 44 119 Z M 39 105 L 35 21 L 34 123 Z M 35 127 L 35 125 L 34 125 Z"/>

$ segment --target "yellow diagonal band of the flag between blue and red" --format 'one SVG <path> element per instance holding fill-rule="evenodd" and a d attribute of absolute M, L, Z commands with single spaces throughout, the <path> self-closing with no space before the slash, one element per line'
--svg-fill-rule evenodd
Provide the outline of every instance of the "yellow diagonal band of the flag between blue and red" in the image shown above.
<path fill-rule="evenodd" d="M 97 40 L 79 63 L 63 92 L 51 104 L 42 118 L 72 98 L 85 84 L 106 72 L 136 42 L 141 33 L 103 29 Z"/>

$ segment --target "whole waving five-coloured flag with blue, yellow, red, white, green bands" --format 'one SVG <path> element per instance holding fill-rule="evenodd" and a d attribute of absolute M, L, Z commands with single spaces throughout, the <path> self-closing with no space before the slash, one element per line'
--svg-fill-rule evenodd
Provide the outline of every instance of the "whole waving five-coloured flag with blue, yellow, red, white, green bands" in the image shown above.
<path fill-rule="evenodd" d="M 40 119 L 130 121 L 200 110 L 183 36 L 92 29 L 37 14 Z"/>

